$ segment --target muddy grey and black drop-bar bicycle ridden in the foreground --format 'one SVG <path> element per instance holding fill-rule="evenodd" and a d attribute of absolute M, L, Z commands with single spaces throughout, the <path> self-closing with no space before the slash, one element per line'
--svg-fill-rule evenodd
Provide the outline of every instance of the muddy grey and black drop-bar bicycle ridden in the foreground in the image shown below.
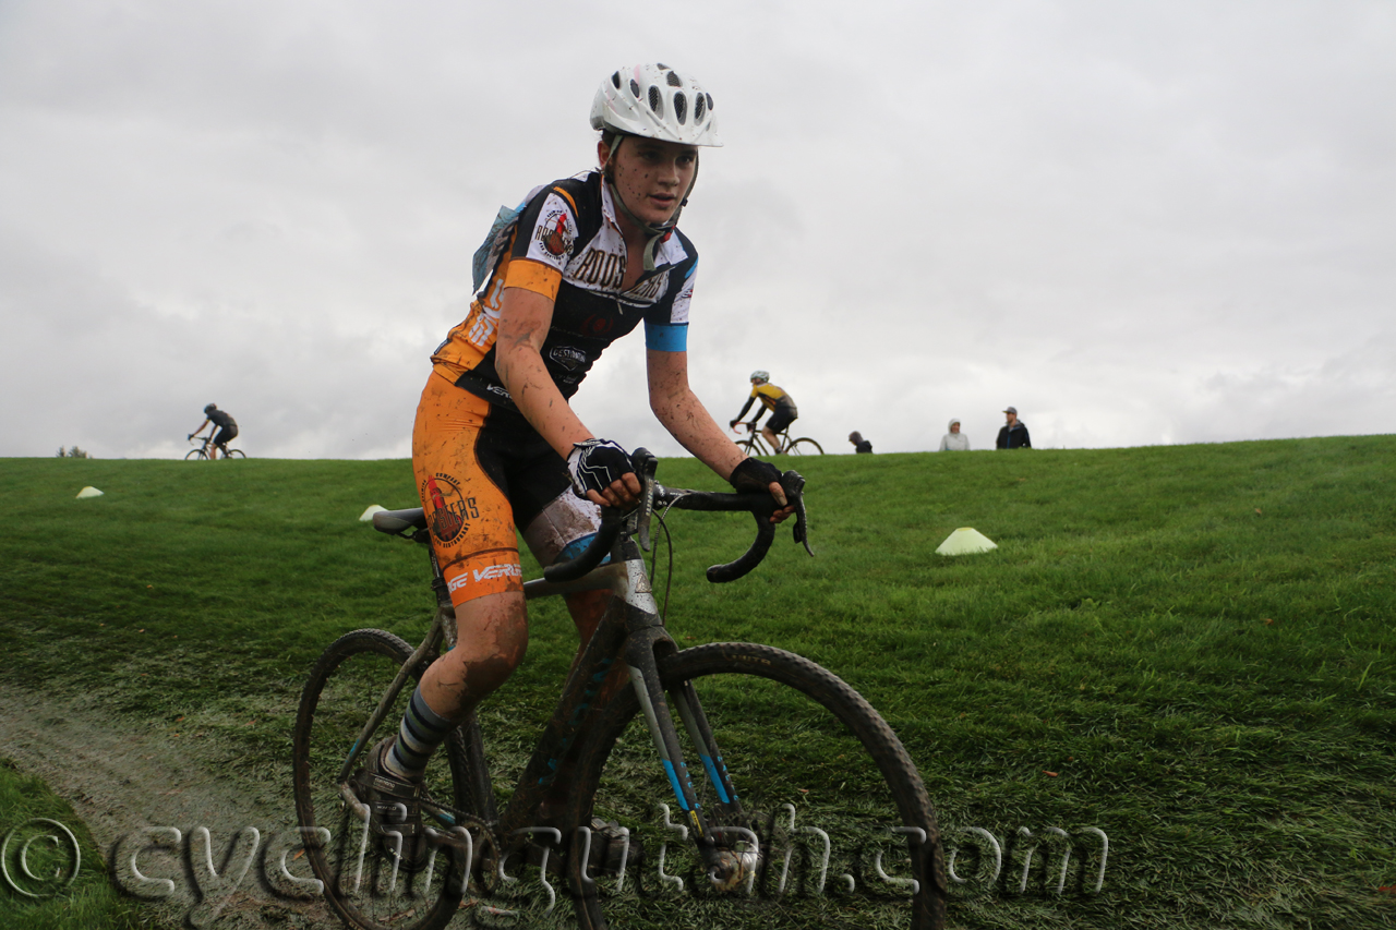
<path fill-rule="evenodd" d="M 765 557 L 775 501 L 667 489 L 653 457 L 634 458 L 642 504 L 603 510 L 585 553 L 524 586 L 530 599 L 609 589 L 611 606 L 512 792 L 496 793 L 473 715 L 433 755 L 423 869 L 401 867 L 401 839 L 370 834 L 360 775 L 366 747 L 455 642 L 430 546 L 437 610 L 422 644 L 356 630 L 315 662 L 296 716 L 295 797 L 329 908 L 364 930 L 941 927 L 935 814 L 877 711 L 808 659 L 747 642 L 680 651 L 664 628 L 641 554 L 652 517 L 754 514 L 751 549 L 708 570 L 727 582 Z M 782 485 L 808 549 L 804 479 L 786 472 Z M 374 526 L 429 542 L 422 510 L 376 514 Z"/>

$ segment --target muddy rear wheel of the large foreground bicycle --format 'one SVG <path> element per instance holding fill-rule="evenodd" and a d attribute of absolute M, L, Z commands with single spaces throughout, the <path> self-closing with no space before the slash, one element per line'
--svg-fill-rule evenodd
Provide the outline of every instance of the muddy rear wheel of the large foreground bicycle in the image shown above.
<path fill-rule="evenodd" d="M 350 927 L 364 930 L 436 930 L 455 916 L 463 883 L 465 855 L 443 845 L 420 873 L 394 869 L 364 829 L 364 821 L 341 795 L 339 769 L 359 733 L 387 693 L 412 648 L 384 630 L 355 630 L 339 637 L 315 662 L 302 693 L 293 735 L 293 783 L 300 827 L 325 828 L 329 839 L 306 843 L 306 857 L 324 883 L 325 901 Z M 415 681 L 426 662 L 403 684 L 402 693 L 369 740 L 395 733 Z M 362 758 L 362 757 L 360 757 Z M 469 765 L 459 729 L 433 755 L 426 774 L 431 800 L 473 814 L 479 807 L 469 789 Z M 423 804 L 423 821 L 440 832 L 455 815 Z M 479 841 L 476 829 L 472 839 Z M 304 835 L 304 834 L 303 834 Z M 479 859 L 479 842 L 473 843 Z"/>

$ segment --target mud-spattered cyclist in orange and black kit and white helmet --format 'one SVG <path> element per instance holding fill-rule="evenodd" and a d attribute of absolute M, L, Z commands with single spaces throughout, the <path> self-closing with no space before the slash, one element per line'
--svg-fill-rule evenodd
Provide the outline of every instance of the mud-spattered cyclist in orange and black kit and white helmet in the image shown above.
<path fill-rule="evenodd" d="M 528 645 L 515 528 L 547 566 L 586 546 L 599 505 L 638 501 L 630 455 L 567 402 L 606 346 L 644 321 L 659 422 L 733 487 L 769 490 L 782 504 L 773 521 L 793 510 L 779 471 L 745 457 L 688 385 L 698 256 L 677 221 L 698 148 L 720 145 L 712 106 L 692 77 L 663 64 L 609 74 L 591 112 L 599 168 L 500 211 L 476 253 L 469 316 L 431 356 L 412 465 L 459 640 L 422 676 L 398 735 L 373 747 L 364 779 L 373 827 L 402 834 L 405 867 L 426 859 L 417 786 L 429 755 Z M 584 645 L 607 598 L 568 598 Z"/>

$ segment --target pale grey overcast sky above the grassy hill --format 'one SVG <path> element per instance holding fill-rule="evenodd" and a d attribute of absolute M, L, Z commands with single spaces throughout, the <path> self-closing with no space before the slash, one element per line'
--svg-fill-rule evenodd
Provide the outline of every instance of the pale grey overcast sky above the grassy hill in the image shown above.
<path fill-rule="evenodd" d="M 1396 431 L 1396 4 L 0 0 L 0 455 L 406 457 L 616 67 L 715 98 L 690 370 L 835 451 Z M 676 452 L 644 337 L 575 408 Z"/>

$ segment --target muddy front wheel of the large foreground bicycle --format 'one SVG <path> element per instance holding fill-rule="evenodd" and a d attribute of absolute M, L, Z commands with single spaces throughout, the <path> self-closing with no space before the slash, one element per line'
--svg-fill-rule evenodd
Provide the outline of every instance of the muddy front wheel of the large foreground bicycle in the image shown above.
<path fill-rule="evenodd" d="M 681 695 L 701 707 L 676 723 L 692 767 L 678 778 L 692 779 L 718 848 L 743 869 L 719 885 L 684 842 L 684 811 L 627 688 L 582 750 L 570 811 L 574 832 L 613 822 L 607 842 L 627 853 L 617 874 L 616 855 L 584 860 L 574 845 L 568 880 L 582 927 L 944 926 L 935 813 L 906 750 L 861 695 L 808 659 L 752 644 L 687 649 L 660 673 L 671 708 Z M 712 760 L 694 746 L 704 726 Z M 708 767 L 730 775 L 736 803 Z"/>

